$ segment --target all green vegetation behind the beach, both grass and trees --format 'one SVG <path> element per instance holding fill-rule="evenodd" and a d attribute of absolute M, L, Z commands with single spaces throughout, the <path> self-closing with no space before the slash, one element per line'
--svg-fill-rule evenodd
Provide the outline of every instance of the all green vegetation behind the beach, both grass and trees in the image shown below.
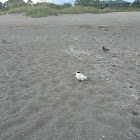
<path fill-rule="evenodd" d="M 140 0 L 136 0 L 132 6 L 120 7 L 116 3 L 104 8 L 100 0 L 76 0 L 74 6 L 71 3 L 58 5 L 54 3 L 36 3 L 31 0 L 25 3 L 23 0 L 8 0 L 4 4 L 0 2 L 0 14 L 26 13 L 31 17 L 45 17 L 58 14 L 82 14 L 82 13 L 107 13 L 107 12 L 129 12 L 140 11 Z"/>

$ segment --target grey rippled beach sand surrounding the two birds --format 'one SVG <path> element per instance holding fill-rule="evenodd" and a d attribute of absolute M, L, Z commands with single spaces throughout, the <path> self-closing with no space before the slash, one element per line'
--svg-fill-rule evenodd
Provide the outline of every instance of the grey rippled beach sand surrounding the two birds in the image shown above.
<path fill-rule="evenodd" d="M 140 12 L 0 16 L 0 140 L 139 139 Z"/>

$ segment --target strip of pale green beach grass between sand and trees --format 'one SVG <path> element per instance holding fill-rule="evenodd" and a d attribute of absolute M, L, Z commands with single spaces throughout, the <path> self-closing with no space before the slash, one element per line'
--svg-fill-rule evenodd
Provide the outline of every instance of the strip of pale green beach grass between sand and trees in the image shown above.
<path fill-rule="evenodd" d="M 123 7 L 119 9 L 97 9 L 94 7 L 83 7 L 83 6 L 74 6 L 64 9 L 55 9 L 48 6 L 37 6 L 37 7 L 19 7 L 14 9 L 9 9 L 7 11 L 0 12 L 0 14 L 11 14 L 11 13 L 26 13 L 27 16 L 31 16 L 34 18 L 37 17 L 47 17 L 49 15 L 56 14 L 84 14 L 84 13 L 110 13 L 110 12 L 132 12 L 132 11 L 140 11 L 140 8 L 135 7 Z"/>

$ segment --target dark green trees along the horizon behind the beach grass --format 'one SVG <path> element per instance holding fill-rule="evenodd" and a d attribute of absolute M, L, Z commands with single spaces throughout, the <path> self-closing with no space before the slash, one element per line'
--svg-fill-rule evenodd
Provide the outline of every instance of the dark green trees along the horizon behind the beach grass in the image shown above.
<path fill-rule="evenodd" d="M 47 2 L 33 4 L 31 0 L 28 0 L 27 3 L 25 3 L 23 0 L 8 0 L 4 4 L 0 2 L 0 10 L 9 10 L 9 9 L 19 8 L 24 6 L 35 6 L 35 7 L 48 6 L 50 8 L 63 9 L 63 8 L 72 7 L 72 4 L 64 3 L 62 5 L 58 5 L 58 4 L 47 3 Z M 104 8 L 104 5 L 100 0 L 76 0 L 74 6 L 86 6 L 86 7 L 90 6 L 90 7 L 100 8 L 100 9 Z M 112 4 L 112 7 L 113 6 L 116 6 L 116 4 L 114 5 Z M 132 7 L 140 8 L 140 0 L 135 0 L 132 3 Z"/>

